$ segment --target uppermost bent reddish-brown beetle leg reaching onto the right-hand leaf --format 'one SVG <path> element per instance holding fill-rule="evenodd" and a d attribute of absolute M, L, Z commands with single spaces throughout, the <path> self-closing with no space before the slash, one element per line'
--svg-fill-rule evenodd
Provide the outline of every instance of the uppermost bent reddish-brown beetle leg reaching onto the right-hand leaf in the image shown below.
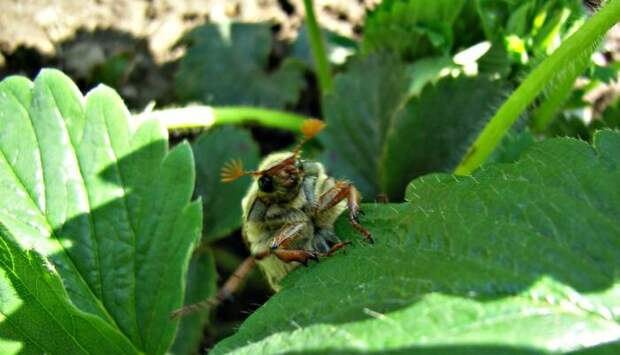
<path fill-rule="evenodd" d="M 370 232 L 359 223 L 359 215 L 362 213 L 359 206 L 361 196 L 359 191 L 357 191 L 355 186 L 351 183 L 337 181 L 336 186 L 325 191 L 321 197 L 319 197 L 317 213 L 321 213 L 322 211 L 336 206 L 345 198 L 347 199 L 347 207 L 349 209 L 349 222 L 368 242 L 374 243 Z"/>

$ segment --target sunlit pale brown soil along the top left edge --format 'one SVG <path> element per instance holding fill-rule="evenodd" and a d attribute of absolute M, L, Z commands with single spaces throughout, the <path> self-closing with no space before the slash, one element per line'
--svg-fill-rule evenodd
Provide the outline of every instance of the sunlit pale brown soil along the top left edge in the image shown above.
<path fill-rule="evenodd" d="M 327 29 L 354 36 L 367 7 L 377 0 L 315 1 Z M 0 0 L 0 50 L 23 46 L 55 56 L 58 44 L 78 30 L 112 29 L 145 38 L 157 63 L 178 56 L 172 49 L 186 30 L 205 21 L 273 22 L 294 37 L 303 18 L 302 0 Z"/>

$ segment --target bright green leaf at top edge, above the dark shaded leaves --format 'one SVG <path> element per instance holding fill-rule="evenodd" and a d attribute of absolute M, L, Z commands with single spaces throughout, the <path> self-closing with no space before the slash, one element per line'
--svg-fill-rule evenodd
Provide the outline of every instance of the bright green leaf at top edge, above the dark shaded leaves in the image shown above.
<path fill-rule="evenodd" d="M 464 0 L 385 0 L 368 14 L 362 48 L 393 51 L 407 60 L 448 54 L 452 24 L 464 4 Z"/>

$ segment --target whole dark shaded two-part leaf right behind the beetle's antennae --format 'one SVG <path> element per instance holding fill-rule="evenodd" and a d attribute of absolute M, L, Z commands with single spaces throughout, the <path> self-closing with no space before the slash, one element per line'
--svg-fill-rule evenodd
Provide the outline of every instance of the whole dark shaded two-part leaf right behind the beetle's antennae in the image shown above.
<path fill-rule="evenodd" d="M 456 166 L 503 98 L 505 84 L 487 76 L 431 85 L 412 68 L 389 54 L 357 58 L 324 100 L 321 160 L 370 200 L 402 200 L 414 177 Z"/>

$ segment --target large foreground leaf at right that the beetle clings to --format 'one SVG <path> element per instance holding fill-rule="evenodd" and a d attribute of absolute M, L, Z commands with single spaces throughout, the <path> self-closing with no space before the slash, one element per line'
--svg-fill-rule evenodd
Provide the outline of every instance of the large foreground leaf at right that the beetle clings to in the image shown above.
<path fill-rule="evenodd" d="M 214 354 L 515 353 L 620 341 L 620 133 L 366 205 L 376 243 L 294 271 Z M 342 218 L 337 232 L 359 237 Z"/>

